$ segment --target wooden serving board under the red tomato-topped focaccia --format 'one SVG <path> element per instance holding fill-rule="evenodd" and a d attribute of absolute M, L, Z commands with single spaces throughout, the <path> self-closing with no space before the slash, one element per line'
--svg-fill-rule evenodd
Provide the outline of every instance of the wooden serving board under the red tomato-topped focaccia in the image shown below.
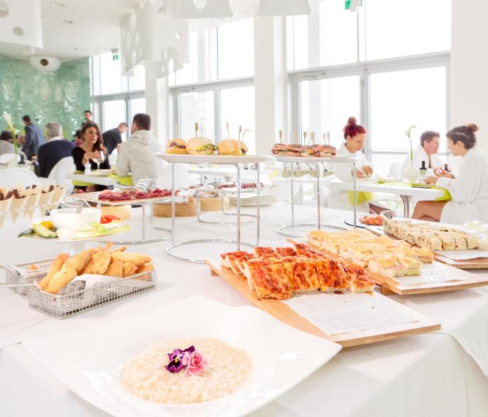
<path fill-rule="evenodd" d="M 390 327 L 379 327 L 376 329 L 368 329 L 361 331 L 352 331 L 349 333 L 327 335 L 314 324 L 310 323 L 307 319 L 298 315 L 294 310 L 282 303 L 280 300 L 257 298 L 255 291 L 249 289 L 248 282 L 243 276 L 237 276 L 231 271 L 231 269 L 214 264 L 209 260 L 205 260 L 205 263 L 210 267 L 211 274 L 214 276 L 221 276 L 227 283 L 249 300 L 253 305 L 264 310 L 274 318 L 279 319 L 285 324 L 294 327 L 295 329 L 306 331 L 307 333 L 315 336 L 323 337 L 324 339 L 339 343 L 344 348 L 352 346 L 360 346 L 368 343 L 377 343 L 380 341 L 399 339 L 400 337 L 412 336 L 414 334 L 428 333 L 429 331 L 436 331 L 441 329 L 441 324 L 434 322 L 429 317 L 424 317 L 417 322 L 411 322 L 407 324 L 398 324 Z M 337 295 L 338 297 L 340 295 Z M 374 298 L 383 297 L 378 293 L 373 295 Z"/>

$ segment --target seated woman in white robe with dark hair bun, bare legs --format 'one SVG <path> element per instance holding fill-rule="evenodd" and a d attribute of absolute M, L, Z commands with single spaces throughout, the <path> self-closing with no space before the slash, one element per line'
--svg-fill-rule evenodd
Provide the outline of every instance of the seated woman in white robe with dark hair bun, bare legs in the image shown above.
<path fill-rule="evenodd" d="M 438 168 L 426 183 L 447 189 L 452 199 L 419 201 L 412 218 L 457 224 L 488 221 L 488 157 L 476 146 L 477 130 L 476 124 L 467 124 L 447 132 L 449 151 L 463 157 L 459 174 L 454 177 Z"/>

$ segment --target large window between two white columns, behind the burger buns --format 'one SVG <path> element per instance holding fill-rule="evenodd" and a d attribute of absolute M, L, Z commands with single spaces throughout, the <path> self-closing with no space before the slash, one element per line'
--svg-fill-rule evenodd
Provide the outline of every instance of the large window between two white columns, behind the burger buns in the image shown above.
<path fill-rule="evenodd" d="M 190 64 L 170 80 L 182 139 L 194 136 L 195 123 L 199 135 L 215 142 L 237 139 L 240 126 L 248 129 L 244 141 L 255 152 L 253 34 L 252 18 L 192 30 Z"/>

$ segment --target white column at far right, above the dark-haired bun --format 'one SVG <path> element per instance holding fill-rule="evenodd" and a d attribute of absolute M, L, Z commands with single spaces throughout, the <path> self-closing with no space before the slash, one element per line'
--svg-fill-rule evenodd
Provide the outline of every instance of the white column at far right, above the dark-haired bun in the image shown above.
<path fill-rule="evenodd" d="M 451 127 L 476 123 L 488 153 L 488 1 L 452 0 Z"/>

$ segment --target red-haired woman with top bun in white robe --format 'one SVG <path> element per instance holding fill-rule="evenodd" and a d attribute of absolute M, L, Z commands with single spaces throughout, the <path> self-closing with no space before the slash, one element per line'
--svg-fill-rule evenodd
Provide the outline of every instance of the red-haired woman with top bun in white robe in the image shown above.
<path fill-rule="evenodd" d="M 361 158 L 361 160 L 356 162 L 356 177 L 370 177 L 373 174 L 373 167 L 366 159 L 366 156 L 364 156 L 364 153 L 361 152 L 364 147 L 364 141 L 366 141 L 366 129 L 360 124 L 356 124 L 356 118 L 349 117 L 347 120 L 347 125 L 344 127 L 344 139 L 346 141 L 337 149 L 337 155 L 351 155 L 356 153 L 356 156 Z M 343 182 L 352 181 L 353 170 L 347 163 L 334 164 L 334 173 Z M 347 191 L 332 194 L 330 197 L 332 207 L 335 209 L 351 209 L 351 196 L 353 195 L 352 192 Z M 380 211 L 388 210 L 386 207 L 371 201 L 371 199 L 371 193 L 356 193 L 358 210 L 366 211 L 366 213 L 370 211 L 380 213 Z"/>

